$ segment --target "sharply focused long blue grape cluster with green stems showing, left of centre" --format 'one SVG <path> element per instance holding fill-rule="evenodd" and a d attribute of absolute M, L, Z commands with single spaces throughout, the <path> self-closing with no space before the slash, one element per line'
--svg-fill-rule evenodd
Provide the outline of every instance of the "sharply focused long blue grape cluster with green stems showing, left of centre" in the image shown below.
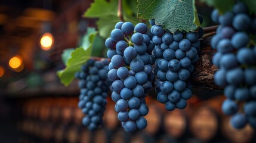
<path fill-rule="evenodd" d="M 147 26 L 138 23 L 118 22 L 105 45 L 111 58 L 107 77 L 112 83 L 112 100 L 116 102 L 118 119 L 127 132 L 144 129 L 149 111 L 145 97 L 152 88 L 155 75 L 152 64 L 154 44 L 146 34 Z"/>

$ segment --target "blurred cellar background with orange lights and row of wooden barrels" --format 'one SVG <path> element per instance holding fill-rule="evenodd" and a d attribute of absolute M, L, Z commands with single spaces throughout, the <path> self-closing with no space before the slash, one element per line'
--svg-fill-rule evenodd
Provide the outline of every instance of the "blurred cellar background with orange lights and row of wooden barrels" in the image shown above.
<path fill-rule="evenodd" d="M 61 85 L 63 49 L 76 48 L 94 18 L 83 18 L 92 0 L 0 1 L 0 142 L 255 142 L 250 126 L 235 130 L 221 113 L 223 91 L 194 89 L 185 110 L 165 111 L 155 92 L 146 98 L 146 129 L 126 133 L 108 98 L 104 125 L 81 125 L 78 81 Z M 197 2 L 202 27 L 211 26 L 211 8 Z M 97 36 L 93 52 L 106 57 Z"/>

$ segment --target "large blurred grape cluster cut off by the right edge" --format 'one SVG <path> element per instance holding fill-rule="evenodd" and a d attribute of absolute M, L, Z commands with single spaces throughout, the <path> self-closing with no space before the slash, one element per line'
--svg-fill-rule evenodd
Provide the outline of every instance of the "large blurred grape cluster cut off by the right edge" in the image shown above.
<path fill-rule="evenodd" d="M 246 123 L 256 128 L 256 18 L 248 14 L 242 2 L 223 15 L 212 11 L 211 18 L 220 23 L 211 46 L 217 49 L 212 63 L 219 67 L 214 80 L 224 87 L 227 97 L 222 111 L 232 115 L 230 123 L 234 128 L 241 129 Z"/>

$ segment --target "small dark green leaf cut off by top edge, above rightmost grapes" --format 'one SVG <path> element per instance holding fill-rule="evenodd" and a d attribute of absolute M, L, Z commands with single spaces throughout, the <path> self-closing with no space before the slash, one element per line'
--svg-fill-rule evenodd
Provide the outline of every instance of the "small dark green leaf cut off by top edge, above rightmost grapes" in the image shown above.
<path fill-rule="evenodd" d="M 227 11 L 232 10 L 233 5 L 235 4 L 234 0 L 200 0 L 201 2 L 205 2 L 205 4 L 209 5 L 210 7 L 217 8 L 218 11 L 223 14 Z M 254 1 L 254 0 L 252 0 Z"/>

